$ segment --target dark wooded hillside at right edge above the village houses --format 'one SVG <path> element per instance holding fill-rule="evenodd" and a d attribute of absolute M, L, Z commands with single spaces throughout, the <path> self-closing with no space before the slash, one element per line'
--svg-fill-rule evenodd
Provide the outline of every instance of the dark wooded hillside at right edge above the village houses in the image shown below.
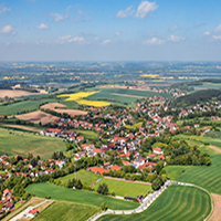
<path fill-rule="evenodd" d="M 209 102 L 211 98 L 217 97 L 221 99 L 221 91 L 220 90 L 202 90 L 186 96 L 180 96 L 176 98 L 171 106 L 176 107 L 187 107 L 189 105 L 194 105 L 199 102 Z"/>

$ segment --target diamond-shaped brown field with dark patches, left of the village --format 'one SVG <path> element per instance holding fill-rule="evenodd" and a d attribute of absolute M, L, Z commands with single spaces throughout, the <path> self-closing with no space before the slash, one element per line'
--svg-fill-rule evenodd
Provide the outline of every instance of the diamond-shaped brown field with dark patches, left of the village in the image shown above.
<path fill-rule="evenodd" d="M 28 122 L 31 122 L 31 123 L 34 123 L 34 124 L 39 124 L 41 122 L 42 125 L 45 125 L 45 124 L 49 124 L 51 122 L 59 119 L 59 117 L 55 117 L 51 114 L 46 114 L 46 113 L 41 112 L 41 110 L 31 112 L 31 113 L 28 113 L 28 114 L 15 115 L 15 117 L 18 119 L 28 120 Z"/>

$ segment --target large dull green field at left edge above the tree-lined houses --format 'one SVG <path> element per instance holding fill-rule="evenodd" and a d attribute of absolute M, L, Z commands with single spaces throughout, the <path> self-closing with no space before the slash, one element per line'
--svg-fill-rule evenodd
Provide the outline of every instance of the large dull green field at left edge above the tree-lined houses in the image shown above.
<path fill-rule="evenodd" d="M 39 155 L 42 159 L 48 159 L 54 151 L 64 151 L 65 143 L 51 137 L 0 129 L 0 155 L 27 156 L 32 152 L 35 157 Z"/>

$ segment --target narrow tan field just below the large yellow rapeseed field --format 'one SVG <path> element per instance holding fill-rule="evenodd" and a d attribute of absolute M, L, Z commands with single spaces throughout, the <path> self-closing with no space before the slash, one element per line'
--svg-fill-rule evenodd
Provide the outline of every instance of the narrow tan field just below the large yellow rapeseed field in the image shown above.
<path fill-rule="evenodd" d="M 60 108 L 55 108 L 55 107 L 65 107 L 64 104 L 60 104 L 60 103 L 50 103 L 50 104 L 45 104 L 43 106 L 41 106 L 42 109 L 53 109 L 54 112 L 57 113 L 67 113 L 70 116 L 74 117 L 77 115 L 86 115 L 87 112 L 83 112 L 80 109 L 60 109 Z"/>

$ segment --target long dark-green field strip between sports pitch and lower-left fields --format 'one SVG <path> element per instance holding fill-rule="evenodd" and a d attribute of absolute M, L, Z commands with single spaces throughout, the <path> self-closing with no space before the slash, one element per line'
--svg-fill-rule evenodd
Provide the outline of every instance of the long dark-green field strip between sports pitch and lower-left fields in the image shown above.
<path fill-rule="evenodd" d="M 106 202 L 109 209 L 135 209 L 138 203 L 117 200 L 112 197 L 102 196 L 96 192 L 86 190 L 74 190 L 63 187 L 59 187 L 49 182 L 33 183 L 27 188 L 27 191 L 31 194 L 35 194 L 41 198 L 50 196 L 55 200 L 63 200 L 70 202 L 77 202 L 87 206 L 101 207 L 102 202 Z"/>

